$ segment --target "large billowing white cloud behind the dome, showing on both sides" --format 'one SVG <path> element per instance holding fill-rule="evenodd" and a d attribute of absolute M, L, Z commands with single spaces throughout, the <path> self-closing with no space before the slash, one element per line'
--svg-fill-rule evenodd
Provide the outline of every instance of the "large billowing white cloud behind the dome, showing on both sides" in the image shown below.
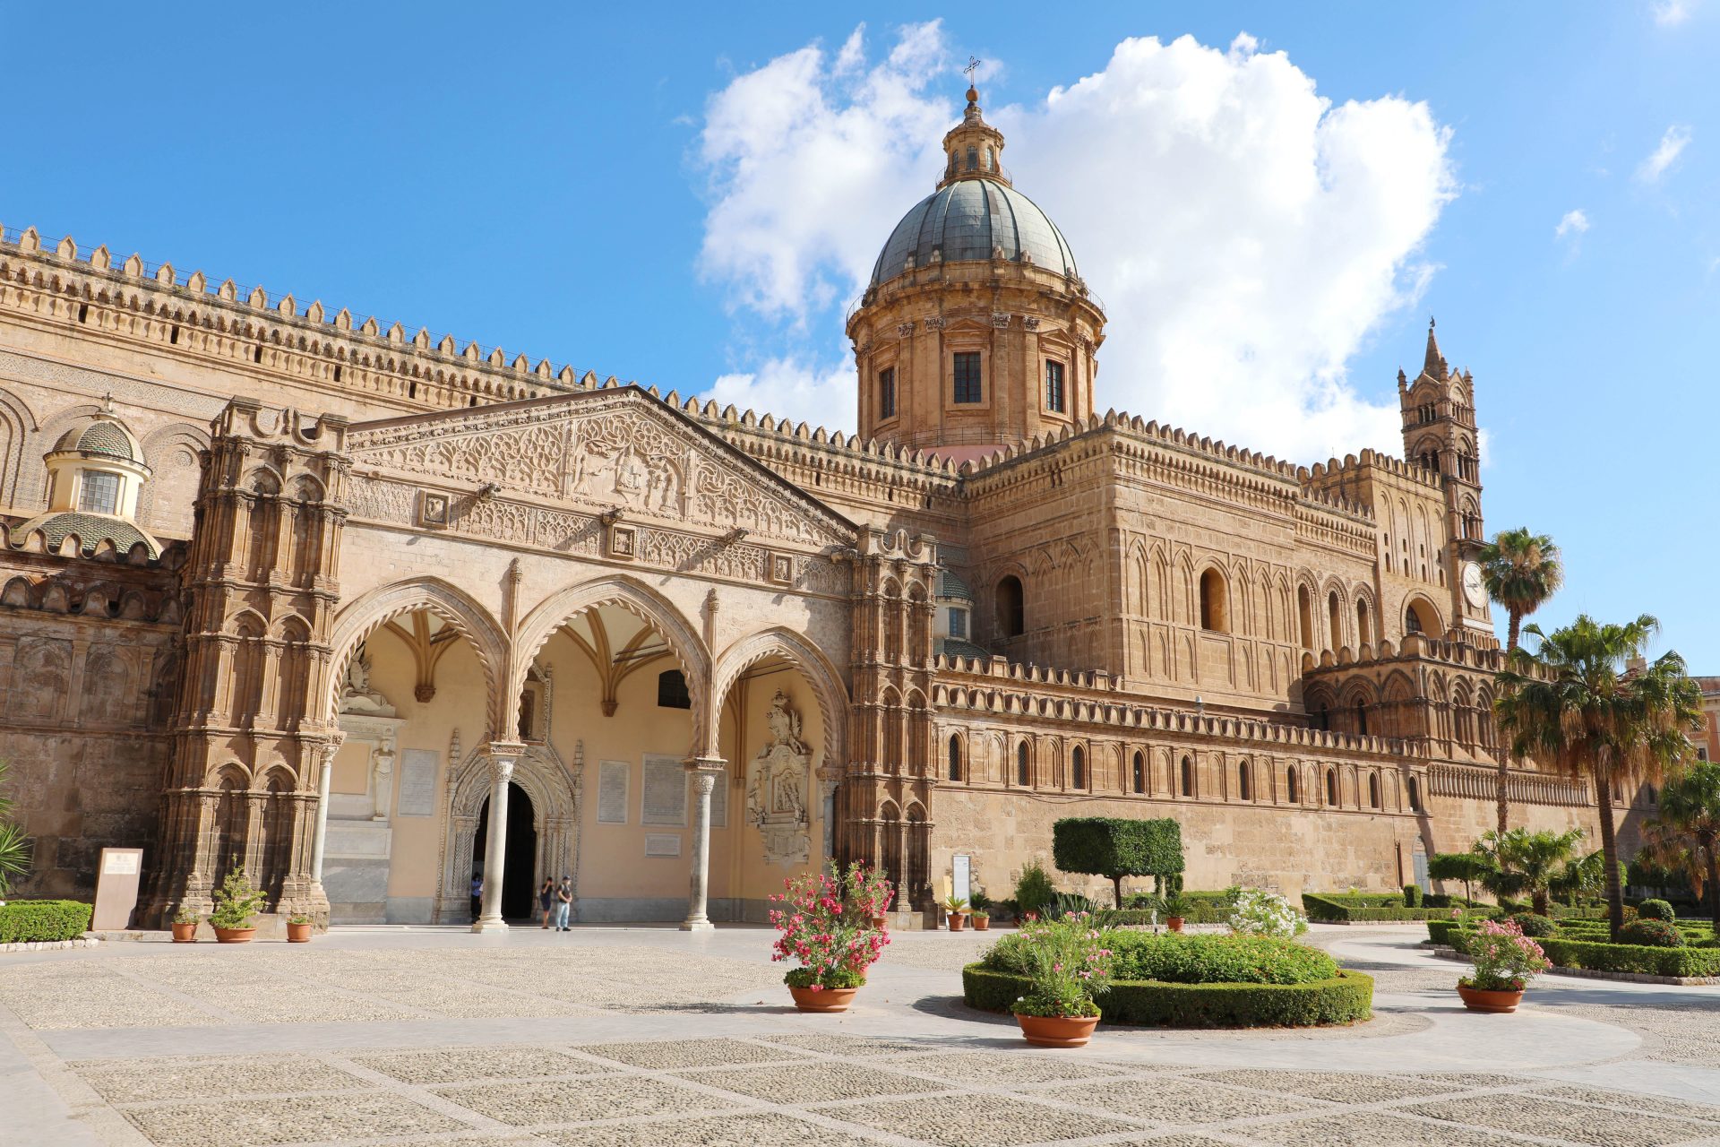
<path fill-rule="evenodd" d="M 800 344 L 726 375 L 722 401 L 853 426 L 851 366 L 815 363 L 846 353 L 838 303 L 932 189 L 960 110 L 944 57 L 920 24 L 851 77 L 808 46 L 712 98 L 700 267 L 733 289 L 748 344 Z M 1367 380 L 1371 401 L 1347 363 L 1433 273 L 1421 244 L 1455 187 L 1426 105 L 1335 105 L 1242 34 L 1228 50 L 1125 40 L 1103 71 L 987 117 L 1104 299 L 1101 409 L 1309 461 L 1402 449 L 1390 380 Z M 1402 354 L 1416 366 L 1421 347 Z"/>

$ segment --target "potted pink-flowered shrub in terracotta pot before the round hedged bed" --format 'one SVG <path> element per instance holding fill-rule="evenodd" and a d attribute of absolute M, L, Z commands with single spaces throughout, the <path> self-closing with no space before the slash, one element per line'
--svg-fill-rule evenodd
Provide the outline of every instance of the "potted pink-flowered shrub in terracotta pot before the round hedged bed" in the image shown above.
<path fill-rule="evenodd" d="M 1035 920 L 1022 932 L 1030 985 L 1010 1008 L 1022 1037 L 1037 1047 L 1082 1047 L 1099 1023 L 1092 997 L 1111 984 L 1111 951 L 1085 911 Z"/>

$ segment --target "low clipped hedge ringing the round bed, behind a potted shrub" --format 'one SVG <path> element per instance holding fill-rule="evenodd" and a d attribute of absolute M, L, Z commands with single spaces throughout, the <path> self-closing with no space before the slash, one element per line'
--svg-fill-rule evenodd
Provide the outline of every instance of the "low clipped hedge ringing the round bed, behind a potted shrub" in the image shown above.
<path fill-rule="evenodd" d="M 1027 994 L 1027 977 L 961 970 L 961 997 L 980 1011 L 1010 1011 Z M 1373 1016 L 1374 982 L 1340 970 L 1312 984 L 1161 984 L 1113 980 L 1099 997 L 1106 1023 L 1147 1027 L 1316 1027 Z"/>

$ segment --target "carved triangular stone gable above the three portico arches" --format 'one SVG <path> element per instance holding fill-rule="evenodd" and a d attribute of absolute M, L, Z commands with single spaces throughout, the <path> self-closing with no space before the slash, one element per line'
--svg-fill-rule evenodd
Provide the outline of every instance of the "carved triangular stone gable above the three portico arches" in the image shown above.
<path fill-rule="evenodd" d="M 378 468 L 628 519 L 843 545 L 853 526 L 636 387 L 356 423 L 347 449 Z"/>

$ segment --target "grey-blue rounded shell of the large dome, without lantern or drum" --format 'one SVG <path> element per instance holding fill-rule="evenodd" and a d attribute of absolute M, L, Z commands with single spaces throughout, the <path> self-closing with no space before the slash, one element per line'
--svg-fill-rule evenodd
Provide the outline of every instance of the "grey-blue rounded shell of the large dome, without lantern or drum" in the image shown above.
<path fill-rule="evenodd" d="M 1075 255 L 1058 225 L 1025 194 L 994 179 L 958 179 L 913 205 L 872 268 L 881 287 L 906 270 L 908 256 L 925 267 L 937 255 L 946 263 L 1023 256 L 1058 275 L 1075 275 Z"/>

